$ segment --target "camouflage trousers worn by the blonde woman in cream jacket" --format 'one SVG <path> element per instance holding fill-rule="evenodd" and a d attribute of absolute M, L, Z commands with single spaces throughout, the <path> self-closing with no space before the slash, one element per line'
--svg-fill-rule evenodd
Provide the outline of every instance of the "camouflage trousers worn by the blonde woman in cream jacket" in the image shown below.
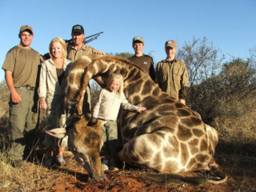
<path fill-rule="evenodd" d="M 64 113 L 64 96 L 47 94 L 46 104 L 47 109 L 45 130 L 66 127 L 66 115 Z M 54 150 L 58 146 L 66 147 L 68 146 L 68 136 L 59 139 L 46 134 L 44 137 L 44 145 L 47 149 L 50 150 Z"/>

